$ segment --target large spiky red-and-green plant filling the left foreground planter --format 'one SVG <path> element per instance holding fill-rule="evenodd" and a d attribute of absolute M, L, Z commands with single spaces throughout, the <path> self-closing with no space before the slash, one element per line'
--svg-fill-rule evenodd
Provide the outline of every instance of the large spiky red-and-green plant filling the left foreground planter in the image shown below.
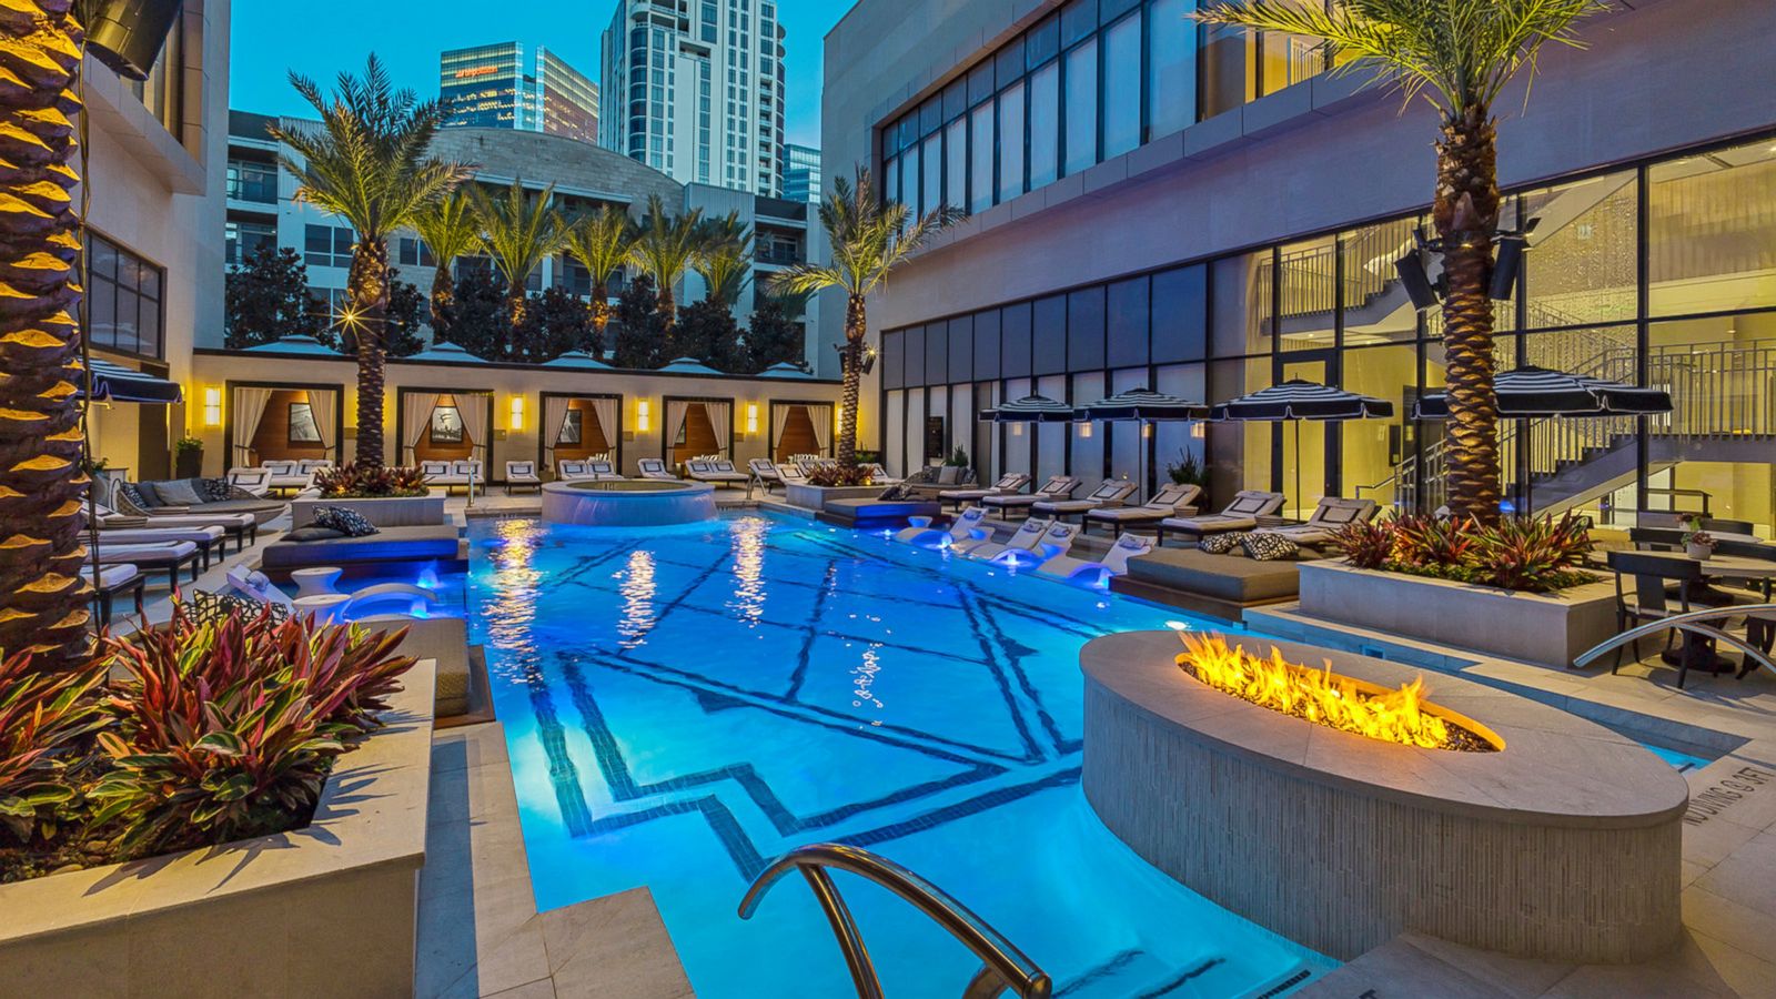
<path fill-rule="evenodd" d="M 119 859 L 282 832 L 314 809 L 334 759 L 378 725 L 414 659 L 394 635 L 227 615 L 107 638 L 126 672 L 107 699 L 89 791 Z"/>

